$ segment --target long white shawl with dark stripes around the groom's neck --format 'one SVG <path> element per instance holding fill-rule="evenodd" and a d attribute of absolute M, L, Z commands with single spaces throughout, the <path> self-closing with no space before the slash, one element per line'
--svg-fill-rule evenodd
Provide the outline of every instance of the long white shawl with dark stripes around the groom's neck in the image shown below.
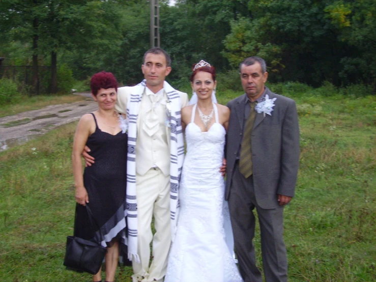
<path fill-rule="evenodd" d="M 133 87 L 127 102 L 128 126 L 128 154 L 127 154 L 127 223 L 128 223 L 128 259 L 139 262 L 137 254 L 137 199 L 136 199 L 136 140 L 137 117 L 142 94 L 146 87 L 146 80 Z M 178 91 L 164 81 L 163 89 L 171 103 L 170 113 L 170 211 L 171 236 L 176 233 L 176 219 L 178 217 L 179 180 L 184 160 L 184 140 L 181 122 L 181 100 Z"/>

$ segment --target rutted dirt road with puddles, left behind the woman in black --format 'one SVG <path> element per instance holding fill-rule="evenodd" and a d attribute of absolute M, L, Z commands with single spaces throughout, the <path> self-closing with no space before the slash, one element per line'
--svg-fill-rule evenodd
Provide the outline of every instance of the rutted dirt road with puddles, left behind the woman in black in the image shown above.
<path fill-rule="evenodd" d="M 0 118 L 0 152 L 23 144 L 57 126 L 77 121 L 82 115 L 97 109 L 98 104 L 89 92 L 77 94 L 88 98 Z"/>

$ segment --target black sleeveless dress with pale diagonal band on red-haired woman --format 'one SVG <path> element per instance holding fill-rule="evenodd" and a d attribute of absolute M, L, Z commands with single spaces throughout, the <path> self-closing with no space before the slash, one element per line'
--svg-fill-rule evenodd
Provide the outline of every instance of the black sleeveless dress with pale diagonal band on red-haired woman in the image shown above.
<path fill-rule="evenodd" d="M 85 167 L 83 183 L 88 191 L 89 203 L 95 221 L 93 227 L 88 219 L 86 208 L 76 205 L 74 236 L 111 246 L 118 238 L 125 250 L 126 243 L 126 178 L 127 178 L 127 133 L 116 135 L 96 129 L 86 142 L 95 158 L 92 166 Z M 101 237 L 102 235 L 102 237 Z M 102 239 L 101 239 L 102 238 Z"/>

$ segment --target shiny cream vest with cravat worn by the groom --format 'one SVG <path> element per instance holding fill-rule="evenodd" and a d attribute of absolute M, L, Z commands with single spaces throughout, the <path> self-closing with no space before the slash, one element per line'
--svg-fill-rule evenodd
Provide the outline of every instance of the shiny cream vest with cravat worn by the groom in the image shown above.
<path fill-rule="evenodd" d="M 153 94 L 150 94 L 153 95 Z M 137 119 L 137 143 L 136 143 L 136 172 L 139 175 L 146 174 L 150 168 L 158 167 L 165 176 L 170 174 L 170 155 L 169 149 L 169 128 L 165 125 L 167 95 L 163 91 L 163 96 L 155 103 L 146 91 L 142 94 L 139 114 Z M 156 120 L 151 121 L 150 110 L 154 111 Z M 158 130 L 155 125 L 158 123 Z"/>

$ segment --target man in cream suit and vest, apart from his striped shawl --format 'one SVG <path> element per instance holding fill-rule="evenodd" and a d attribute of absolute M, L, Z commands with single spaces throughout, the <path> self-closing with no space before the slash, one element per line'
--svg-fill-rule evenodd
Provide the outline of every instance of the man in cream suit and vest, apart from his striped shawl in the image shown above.
<path fill-rule="evenodd" d="M 170 127 L 166 125 L 168 120 L 166 107 L 169 102 L 167 94 L 170 95 L 173 89 L 164 81 L 171 71 L 171 59 L 163 49 L 153 48 L 144 54 L 141 69 L 146 79 L 143 93 L 136 93 L 139 91 L 139 86 L 118 88 L 118 102 L 115 109 L 126 114 L 127 103 L 134 101 L 133 98 L 139 95 L 135 143 L 136 233 L 139 262 L 136 259 L 132 260 L 134 272 L 132 279 L 133 282 L 162 282 L 171 243 Z M 180 108 L 188 105 L 186 93 L 173 91 L 175 95 L 179 95 L 177 98 L 180 100 Z M 179 131 L 177 134 L 183 133 Z M 83 155 L 87 163 L 88 158 Z M 127 174 L 129 178 L 129 167 Z M 151 229 L 153 216 L 156 230 L 154 236 Z M 153 260 L 149 266 L 151 242 Z"/>

